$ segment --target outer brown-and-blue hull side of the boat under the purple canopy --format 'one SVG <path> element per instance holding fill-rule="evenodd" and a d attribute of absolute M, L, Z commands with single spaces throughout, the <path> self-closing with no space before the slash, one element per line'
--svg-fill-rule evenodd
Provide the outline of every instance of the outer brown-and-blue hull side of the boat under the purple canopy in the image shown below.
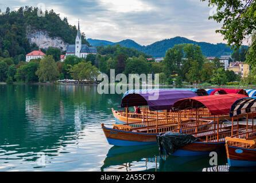
<path fill-rule="evenodd" d="M 138 146 L 156 144 L 158 133 L 137 133 L 102 127 L 108 144 L 116 146 Z"/>

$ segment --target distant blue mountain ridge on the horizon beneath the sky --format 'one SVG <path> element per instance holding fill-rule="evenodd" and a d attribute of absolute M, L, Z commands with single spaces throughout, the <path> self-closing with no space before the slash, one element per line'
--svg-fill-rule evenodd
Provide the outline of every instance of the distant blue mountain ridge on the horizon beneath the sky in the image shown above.
<path fill-rule="evenodd" d="M 98 39 L 87 39 L 87 41 L 92 46 L 107 46 L 119 44 L 125 47 L 134 47 L 139 51 L 143 51 L 146 54 L 153 55 L 153 57 L 164 57 L 166 51 L 172 48 L 174 45 L 179 45 L 181 43 L 193 43 L 194 45 L 201 46 L 203 54 L 207 57 L 220 57 L 221 55 L 231 55 L 231 47 L 227 47 L 224 43 L 212 44 L 208 42 L 197 42 L 184 37 L 174 37 L 170 39 L 164 39 L 162 41 L 157 41 L 148 46 L 139 45 L 137 42 L 126 39 L 120 42 L 110 42 Z"/>

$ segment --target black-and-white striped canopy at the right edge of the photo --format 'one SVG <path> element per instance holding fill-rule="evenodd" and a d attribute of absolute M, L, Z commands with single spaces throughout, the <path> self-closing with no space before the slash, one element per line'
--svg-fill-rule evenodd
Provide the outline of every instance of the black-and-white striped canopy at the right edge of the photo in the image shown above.
<path fill-rule="evenodd" d="M 230 117 L 255 112 L 256 97 L 246 97 L 236 100 L 230 108 Z"/>

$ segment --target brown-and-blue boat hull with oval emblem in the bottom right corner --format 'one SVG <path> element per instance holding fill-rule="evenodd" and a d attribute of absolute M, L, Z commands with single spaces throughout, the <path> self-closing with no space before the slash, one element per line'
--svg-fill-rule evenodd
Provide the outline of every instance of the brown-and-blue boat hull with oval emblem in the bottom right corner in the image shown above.
<path fill-rule="evenodd" d="M 256 149 L 226 145 L 229 166 L 256 166 Z"/>

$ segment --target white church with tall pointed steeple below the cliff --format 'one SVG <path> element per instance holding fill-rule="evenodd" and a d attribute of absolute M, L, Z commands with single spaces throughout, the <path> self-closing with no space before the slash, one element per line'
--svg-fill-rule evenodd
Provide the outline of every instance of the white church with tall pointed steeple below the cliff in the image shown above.
<path fill-rule="evenodd" d="M 65 57 L 68 55 L 76 55 L 79 58 L 86 58 L 88 54 L 96 54 L 96 47 L 89 47 L 88 45 L 82 45 L 82 37 L 80 33 L 80 27 L 78 22 L 77 34 L 76 34 L 76 42 L 75 45 L 68 45 Z"/>

